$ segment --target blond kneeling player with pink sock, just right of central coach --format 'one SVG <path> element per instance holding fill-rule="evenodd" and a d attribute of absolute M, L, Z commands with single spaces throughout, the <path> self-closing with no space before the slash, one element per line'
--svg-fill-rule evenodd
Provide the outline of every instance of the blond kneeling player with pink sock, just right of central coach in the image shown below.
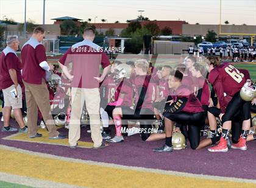
<path fill-rule="evenodd" d="M 146 59 L 135 61 L 136 78 L 133 83 L 124 82 L 125 87 L 135 85 L 135 105 L 117 107 L 113 110 L 113 119 L 116 128 L 116 136 L 112 139 L 107 139 L 109 143 L 123 142 L 124 138 L 121 134 L 122 119 L 133 119 L 140 121 L 141 139 L 146 141 L 151 133 L 149 128 L 152 128 L 152 119 L 154 119 L 154 106 L 156 84 L 151 80 L 151 76 L 147 75 L 149 63 Z M 121 90 L 123 90 L 123 87 Z"/>

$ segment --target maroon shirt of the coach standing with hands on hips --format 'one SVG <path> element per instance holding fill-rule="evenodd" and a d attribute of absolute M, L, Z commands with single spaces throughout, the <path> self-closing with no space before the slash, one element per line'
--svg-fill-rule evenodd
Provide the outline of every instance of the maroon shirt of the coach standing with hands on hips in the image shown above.
<path fill-rule="evenodd" d="M 99 45 L 84 39 L 84 41 L 74 44 L 60 58 L 59 62 L 63 65 L 73 63 L 74 78 L 71 87 L 87 89 L 99 87 L 99 82 L 93 77 L 99 77 L 99 65 L 103 69 L 110 65 L 107 55 L 101 51 Z"/>

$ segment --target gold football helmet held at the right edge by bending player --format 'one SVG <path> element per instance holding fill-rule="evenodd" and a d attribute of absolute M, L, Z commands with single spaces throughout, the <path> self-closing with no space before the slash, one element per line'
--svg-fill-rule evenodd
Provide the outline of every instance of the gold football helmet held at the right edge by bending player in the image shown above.
<path fill-rule="evenodd" d="M 256 96 L 256 86 L 254 82 L 246 82 L 240 90 L 240 96 L 244 101 L 252 101 Z"/>

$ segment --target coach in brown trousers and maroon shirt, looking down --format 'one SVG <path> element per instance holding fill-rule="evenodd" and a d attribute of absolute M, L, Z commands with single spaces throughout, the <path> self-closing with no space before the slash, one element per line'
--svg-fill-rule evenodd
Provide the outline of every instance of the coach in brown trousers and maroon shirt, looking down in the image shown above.
<path fill-rule="evenodd" d="M 43 115 L 46 127 L 49 130 L 49 139 L 63 139 L 54 124 L 49 102 L 49 90 L 46 86 L 46 71 L 52 69 L 46 62 L 46 54 L 43 44 L 45 31 L 42 27 L 36 27 L 32 37 L 21 50 L 23 61 L 23 83 L 25 86 L 27 104 L 27 126 L 29 127 L 29 138 L 42 136 L 37 133 L 37 106 Z"/>

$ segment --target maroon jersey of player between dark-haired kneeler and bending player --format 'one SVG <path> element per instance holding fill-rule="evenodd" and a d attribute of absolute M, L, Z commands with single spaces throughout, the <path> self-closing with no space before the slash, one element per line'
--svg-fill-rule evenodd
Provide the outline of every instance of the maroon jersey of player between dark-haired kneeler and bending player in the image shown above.
<path fill-rule="evenodd" d="M 204 77 L 193 77 L 194 95 L 199 99 L 202 105 L 210 104 L 210 88 Z"/>

